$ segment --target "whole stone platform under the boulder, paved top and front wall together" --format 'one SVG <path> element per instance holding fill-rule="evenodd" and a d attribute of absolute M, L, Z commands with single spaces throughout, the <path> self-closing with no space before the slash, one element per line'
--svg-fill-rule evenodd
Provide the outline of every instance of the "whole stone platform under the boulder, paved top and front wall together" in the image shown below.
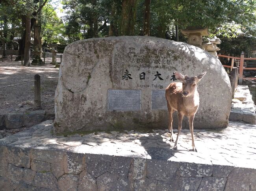
<path fill-rule="evenodd" d="M 48 120 L 0 139 L 2 190 L 256 190 L 254 125 L 195 130 L 198 153 L 189 151 L 186 129 L 177 151 L 167 130 L 65 136 L 52 131 Z"/>

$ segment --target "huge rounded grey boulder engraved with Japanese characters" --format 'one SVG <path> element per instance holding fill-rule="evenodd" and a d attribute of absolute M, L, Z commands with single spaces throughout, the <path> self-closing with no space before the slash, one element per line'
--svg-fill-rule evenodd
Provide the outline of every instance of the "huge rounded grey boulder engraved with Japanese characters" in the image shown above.
<path fill-rule="evenodd" d="M 158 91 L 174 82 L 175 71 L 189 76 L 207 71 L 198 84 L 200 107 L 194 127 L 227 127 L 230 80 L 216 57 L 182 42 L 120 36 L 80 40 L 65 48 L 55 93 L 55 133 L 111 127 L 166 128 L 165 99 L 156 95 L 164 96 Z M 118 95 L 124 92 L 129 95 Z M 175 116 L 174 127 L 176 121 Z M 188 127 L 188 122 L 184 126 Z"/>

